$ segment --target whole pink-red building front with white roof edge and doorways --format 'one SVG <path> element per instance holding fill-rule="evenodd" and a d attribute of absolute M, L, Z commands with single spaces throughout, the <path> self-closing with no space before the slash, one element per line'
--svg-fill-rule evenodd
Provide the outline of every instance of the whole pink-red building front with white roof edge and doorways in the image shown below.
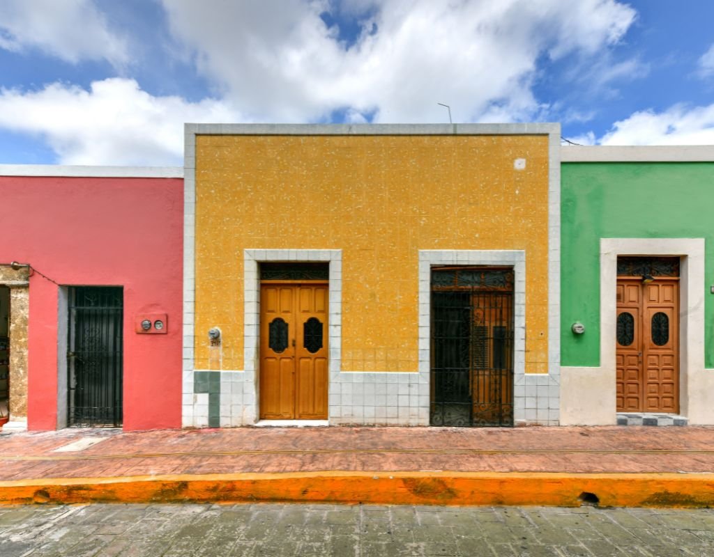
<path fill-rule="evenodd" d="M 182 176 L 0 166 L 6 427 L 181 426 Z"/>

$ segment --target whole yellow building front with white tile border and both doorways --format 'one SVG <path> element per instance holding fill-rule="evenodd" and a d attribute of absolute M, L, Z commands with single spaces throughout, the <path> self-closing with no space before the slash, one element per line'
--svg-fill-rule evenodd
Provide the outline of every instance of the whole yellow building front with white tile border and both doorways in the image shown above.
<path fill-rule="evenodd" d="M 187 125 L 184 425 L 557 423 L 558 136 Z"/>

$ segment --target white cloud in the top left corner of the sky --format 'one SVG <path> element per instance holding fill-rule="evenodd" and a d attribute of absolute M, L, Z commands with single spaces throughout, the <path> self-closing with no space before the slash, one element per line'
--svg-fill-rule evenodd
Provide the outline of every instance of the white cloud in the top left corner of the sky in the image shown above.
<path fill-rule="evenodd" d="M 126 41 L 109 30 L 91 0 L 1 0 L 0 48 L 38 48 L 71 63 L 129 61 Z"/>

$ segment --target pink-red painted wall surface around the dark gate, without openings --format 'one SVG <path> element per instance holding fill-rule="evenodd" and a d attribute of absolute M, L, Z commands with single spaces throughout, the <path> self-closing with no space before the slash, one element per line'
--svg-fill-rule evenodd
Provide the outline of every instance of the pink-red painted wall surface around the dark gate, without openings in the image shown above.
<path fill-rule="evenodd" d="M 124 287 L 124 429 L 181 426 L 183 180 L 0 176 L 0 262 Z M 28 427 L 56 429 L 59 287 L 30 279 Z M 134 315 L 166 312 L 168 334 Z"/>

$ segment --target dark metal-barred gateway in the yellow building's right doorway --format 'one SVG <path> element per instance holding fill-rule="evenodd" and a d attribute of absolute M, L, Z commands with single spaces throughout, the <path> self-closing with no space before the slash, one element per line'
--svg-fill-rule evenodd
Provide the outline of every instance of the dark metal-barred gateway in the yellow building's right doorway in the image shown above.
<path fill-rule="evenodd" d="M 513 425 L 513 269 L 431 272 L 431 424 Z"/>

